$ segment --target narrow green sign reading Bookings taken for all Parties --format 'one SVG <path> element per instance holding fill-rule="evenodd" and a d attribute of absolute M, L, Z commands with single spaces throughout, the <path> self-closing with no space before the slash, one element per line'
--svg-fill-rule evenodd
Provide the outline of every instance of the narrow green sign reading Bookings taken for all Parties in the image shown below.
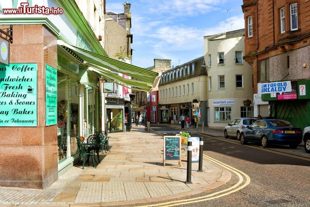
<path fill-rule="evenodd" d="M 57 69 L 45 64 L 45 123 L 57 124 Z"/>

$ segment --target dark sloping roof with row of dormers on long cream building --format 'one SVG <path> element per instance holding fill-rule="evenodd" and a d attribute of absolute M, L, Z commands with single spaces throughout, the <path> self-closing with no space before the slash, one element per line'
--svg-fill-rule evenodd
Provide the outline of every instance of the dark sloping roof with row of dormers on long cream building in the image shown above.
<path fill-rule="evenodd" d="M 188 61 L 182 65 L 178 65 L 170 70 L 166 70 L 162 73 L 162 76 L 166 75 L 166 74 L 169 74 L 170 72 L 174 72 L 174 73 L 178 73 L 178 78 L 174 78 L 172 80 L 169 81 L 169 78 L 168 78 L 168 81 L 166 82 L 163 82 L 163 83 L 159 83 L 159 86 L 162 86 L 162 85 L 167 85 L 167 84 L 170 84 L 170 83 L 175 83 L 175 82 L 179 82 L 179 81 L 182 81 L 182 80 L 185 80 L 185 79 L 190 79 L 190 78 L 194 78 L 194 77 L 197 77 L 197 76 L 201 76 L 201 75 L 207 75 L 207 68 L 204 67 L 203 65 L 205 65 L 204 63 L 205 59 L 204 59 L 204 56 L 201 56 L 201 57 L 198 57 L 194 60 L 191 60 L 191 61 Z M 194 73 L 192 72 L 192 64 L 195 64 L 194 68 L 195 68 L 195 71 Z M 187 67 L 188 65 L 190 65 L 190 73 L 188 74 L 187 72 Z M 183 68 L 184 70 L 184 67 L 186 66 L 186 73 L 185 73 L 185 77 L 184 75 L 182 75 L 182 77 L 180 78 L 179 76 L 179 69 Z M 182 72 L 182 74 L 184 74 L 184 72 Z M 162 78 L 161 76 L 161 78 Z M 176 77 L 176 74 L 175 74 L 175 77 Z"/>

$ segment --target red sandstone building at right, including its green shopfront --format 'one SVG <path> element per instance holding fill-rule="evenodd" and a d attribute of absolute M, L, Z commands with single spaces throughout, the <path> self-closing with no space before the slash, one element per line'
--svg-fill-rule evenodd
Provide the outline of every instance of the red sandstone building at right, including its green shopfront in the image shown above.
<path fill-rule="evenodd" d="M 310 125 L 309 8 L 310 2 L 299 0 L 243 1 L 244 59 L 253 68 L 255 116 Z"/>

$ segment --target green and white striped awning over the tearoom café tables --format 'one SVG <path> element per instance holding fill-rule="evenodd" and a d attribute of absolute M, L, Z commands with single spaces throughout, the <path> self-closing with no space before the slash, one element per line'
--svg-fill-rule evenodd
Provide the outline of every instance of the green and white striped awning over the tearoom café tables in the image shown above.
<path fill-rule="evenodd" d="M 120 84 L 122 86 L 132 86 L 135 89 L 142 91 L 149 91 L 154 84 L 155 79 L 158 79 L 158 73 L 144 68 L 137 67 L 128 63 L 114 60 L 107 56 L 102 56 L 94 52 L 89 52 L 87 50 L 65 44 L 63 41 L 57 42 L 61 47 L 63 47 L 67 52 L 77 58 L 79 61 L 86 65 L 94 68 L 94 72 L 100 74 L 102 77 L 108 81 Z M 117 73 L 128 75 L 133 79 L 125 79 L 122 76 L 115 74 L 111 71 Z M 126 87 L 126 86 L 125 86 Z"/>

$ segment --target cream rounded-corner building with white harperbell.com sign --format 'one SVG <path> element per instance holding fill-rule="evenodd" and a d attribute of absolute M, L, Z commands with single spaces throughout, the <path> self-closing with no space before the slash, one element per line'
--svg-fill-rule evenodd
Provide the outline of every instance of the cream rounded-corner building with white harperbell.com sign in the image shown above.
<path fill-rule="evenodd" d="M 204 37 L 208 67 L 208 125 L 224 128 L 236 117 L 253 117 L 253 70 L 243 61 L 244 29 Z M 252 104 L 244 107 L 243 101 Z"/>

